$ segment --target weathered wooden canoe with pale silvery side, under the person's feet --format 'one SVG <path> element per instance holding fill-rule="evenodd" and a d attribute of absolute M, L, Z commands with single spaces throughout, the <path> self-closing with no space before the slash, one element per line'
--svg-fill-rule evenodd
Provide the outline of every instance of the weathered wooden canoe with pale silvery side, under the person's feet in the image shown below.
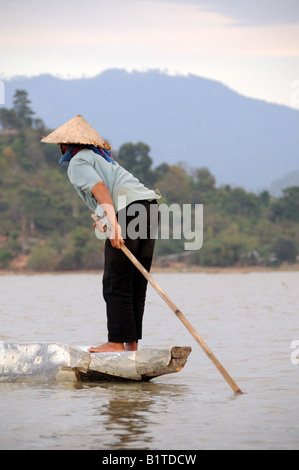
<path fill-rule="evenodd" d="M 0 383 L 149 381 L 179 372 L 190 352 L 188 346 L 172 346 L 91 354 L 82 346 L 0 341 Z"/>

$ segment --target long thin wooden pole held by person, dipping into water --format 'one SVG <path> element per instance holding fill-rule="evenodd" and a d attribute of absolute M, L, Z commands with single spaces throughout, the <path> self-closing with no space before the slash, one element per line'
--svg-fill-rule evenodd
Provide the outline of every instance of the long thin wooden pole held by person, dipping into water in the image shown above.
<path fill-rule="evenodd" d="M 92 215 L 92 218 L 97 221 L 98 218 Z M 206 345 L 206 343 L 203 341 L 203 339 L 199 336 L 199 334 L 195 331 L 193 326 L 189 323 L 185 315 L 178 309 L 178 307 L 172 302 L 172 300 L 166 295 L 166 293 L 161 289 L 161 287 L 154 281 L 150 273 L 142 266 L 142 264 L 138 261 L 138 259 L 131 253 L 131 251 L 122 243 L 121 244 L 121 250 L 122 252 L 132 261 L 134 266 L 143 274 L 143 276 L 148 280 L 148 282 L 153 286 L 153 288 L 158 292 L 158 294 L 162 297 L 163 300 L 167 303 L 167 305 L 171 308 L 171 310 L 176 314 L 176 316 L 181 320 L 181 322 L 185 325 L 187 330 L 191 333 L 193 338 L 197 341 L 199 346 L 203 349 L 203 351 L 206 353 L 206 355 L 211 359 L 213 364 L 216 366 L 218 371 L 223 375 L 227 383 L 230 385 L 230 387 L 233 389 L 233 391 L 236 394 L 242 394 L 242 390 L 236 382 L 232 379 L 232 377 L 229 375 L 229 373 L 226 371 L 226 369 L 223 367 L 223 365 L 218 361 L 218 359 L 215 357 L 213 352 L 210 350 L 210 348 Z"/>

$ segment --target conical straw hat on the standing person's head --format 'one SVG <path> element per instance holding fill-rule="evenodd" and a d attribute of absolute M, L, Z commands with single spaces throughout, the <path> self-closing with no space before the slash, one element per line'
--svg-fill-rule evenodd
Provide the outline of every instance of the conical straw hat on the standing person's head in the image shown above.
<path fill-rule="evenodd" d="M 95 145 L 97 147 L 110 149 L 110 145 L 102 139 L 80 114 L 55 129 L 55 131 L 51 132 L 47 137 L 43 137 L 41 142 L 48 144 Z"/>

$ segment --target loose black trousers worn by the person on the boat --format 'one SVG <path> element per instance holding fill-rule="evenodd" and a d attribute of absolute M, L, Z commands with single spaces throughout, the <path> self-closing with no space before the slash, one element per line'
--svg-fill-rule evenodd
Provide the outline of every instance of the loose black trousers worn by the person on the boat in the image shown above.
<path fill-rule="evenodd" d="M 156 201 L 137 201 L 117 214 L 125 245 L 147 271 L 152 264 L 158 207 Z M 130 215 L 135 209 L 136 213 Z M 105 243 L 103 296 L 108 341 L 138 341 L 142 338 L 147 280 L 121 250 L 112 247 L 110 240 Z"/>

